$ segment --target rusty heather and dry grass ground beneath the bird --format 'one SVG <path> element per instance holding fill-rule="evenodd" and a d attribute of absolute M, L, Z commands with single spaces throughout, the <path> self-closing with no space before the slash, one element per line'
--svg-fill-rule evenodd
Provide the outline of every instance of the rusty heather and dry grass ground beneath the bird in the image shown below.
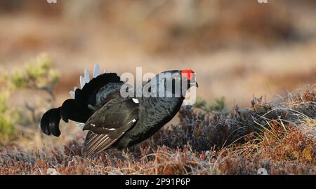
<path fill-rule="evenodd" d="M 249 109 L 202 115 L 190 107 L 129 153 L 83 158 L 83 138 L 65 146 L 0 149 L 0 174 L 316 174 L 315 86 L 277 104 L 254 99 Z M 276 103 L 276 102 L 275 102 Z"/>

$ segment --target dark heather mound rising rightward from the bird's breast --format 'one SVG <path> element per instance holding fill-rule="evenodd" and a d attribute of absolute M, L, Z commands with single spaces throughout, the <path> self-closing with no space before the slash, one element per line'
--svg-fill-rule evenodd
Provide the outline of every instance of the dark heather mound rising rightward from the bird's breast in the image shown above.
<path fill-rule="evenodd" d="M 209 151 L 211 148 L 223 148 L 230 144 L 244 144 L 249 138 L 261 137 L 261 133 L 272 130 L 277 124 L 282 130 L 286 127 L 301 127 L 316 117 L 315 86 L 308 87 L 282 101 L 265 103 L 263 98 L 251 101 L 249 109 L 235 106 L 230 113 L 201 113 L 191 106 L 179 111 L 180 123 L 160 130 L 152 140 L 153 146 L 183 148 L 190 145 L 194 151 Z M 206 103 L 200 103 L 206 106 Z"/>

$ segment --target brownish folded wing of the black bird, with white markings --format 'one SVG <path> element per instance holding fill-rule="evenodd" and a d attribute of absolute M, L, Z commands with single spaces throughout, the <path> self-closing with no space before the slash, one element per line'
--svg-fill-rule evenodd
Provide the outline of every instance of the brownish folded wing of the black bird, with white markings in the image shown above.
<path fill-rule="evenodd" d="M 130 130 L 138 120 L 138 104 L 117 94 L 98 109 L 86 122 L 86 156 L 110 148 L 115 141 Z"/>

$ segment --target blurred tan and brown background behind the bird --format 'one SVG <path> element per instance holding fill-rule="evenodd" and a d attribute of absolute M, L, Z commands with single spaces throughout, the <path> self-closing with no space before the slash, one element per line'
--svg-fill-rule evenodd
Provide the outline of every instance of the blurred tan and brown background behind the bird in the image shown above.
<path fill-rule="evenodd" d="M 315 0 L 1 0 L 0 69 L 46 53 L 60 72 L 57 106 L 96 63 L 119 74 L 190 68 L 199 97 L 250 106 L 316 83 L 315 10 Z"/>

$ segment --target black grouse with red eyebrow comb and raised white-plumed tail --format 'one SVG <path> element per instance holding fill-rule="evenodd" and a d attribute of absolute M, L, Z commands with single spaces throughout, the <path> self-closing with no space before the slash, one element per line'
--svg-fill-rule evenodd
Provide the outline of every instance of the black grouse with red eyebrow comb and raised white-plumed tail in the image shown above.
<path fill-rule="evenodd" d="M 187 90 L 198 87 L 192 69 L 163 71 L 138 87 L 121 81 L 117 73 L 99 74 L 99 70 L 96 64 L 90 79 L 85 69 L 84 76 L 79 77 L 81 88 L 74 87 L 70 91 L 72 98 L 44 113 L 40 123 L 44 134 L 55 137 L 61 134 L 60 120 L 81 125 L 82 130 L 88 131 L 84 141 L 86 157 L 110 148 L 124 151 L 152 137 L 176 116 Z M 167 83 L 172 87 L 166 87 Z M 180 92 L 176 90 L 177 83 Z M 144 95 L 121 95 L 122 91 L 136 94 L 139 90 Z"/>

